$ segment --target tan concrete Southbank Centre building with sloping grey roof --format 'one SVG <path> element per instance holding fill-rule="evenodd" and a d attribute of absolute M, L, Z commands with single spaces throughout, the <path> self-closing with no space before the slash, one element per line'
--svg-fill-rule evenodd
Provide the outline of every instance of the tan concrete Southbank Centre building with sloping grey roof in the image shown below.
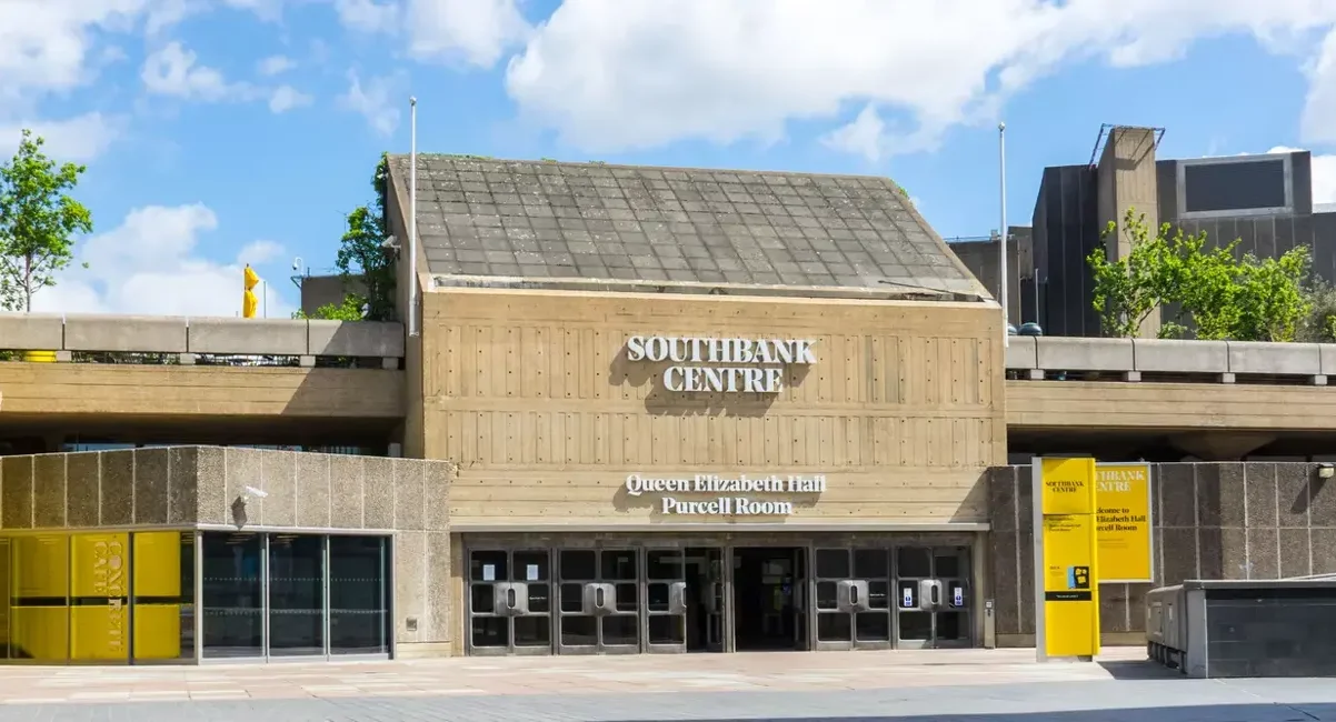
<path fill-rule="evenodd" d="M 1025 645 L 1031 454 L 1156 463 L 1110 643 L 1149 583 L 1336 571 L 1336 347 L 1003 346 L 886 179 L 418 161 L 417 334 L 0 316 L 9 659 Z"/>

